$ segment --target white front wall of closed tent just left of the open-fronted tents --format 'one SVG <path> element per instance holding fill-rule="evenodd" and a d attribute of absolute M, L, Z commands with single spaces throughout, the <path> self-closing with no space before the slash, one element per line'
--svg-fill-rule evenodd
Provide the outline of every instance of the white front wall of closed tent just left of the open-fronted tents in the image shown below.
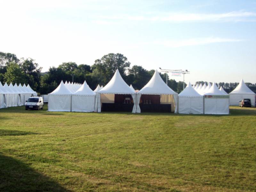
<path fill-rule="evenodd" d="M 72 95 L 71 111 L 93 112 L 95 110 L 95 95 Z"/>

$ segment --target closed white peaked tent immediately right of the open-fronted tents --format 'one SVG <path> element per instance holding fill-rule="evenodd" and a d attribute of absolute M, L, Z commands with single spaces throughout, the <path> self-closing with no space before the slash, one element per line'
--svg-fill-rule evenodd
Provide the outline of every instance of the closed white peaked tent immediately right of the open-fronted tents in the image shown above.
<path fill-rule="evenodd" d="M 187 87 L 180 92 L 178 101 L 178 113 L 182 114 L 203 114 L 204 97 L 200 95 L 191 86 L 190 82 Z"/>

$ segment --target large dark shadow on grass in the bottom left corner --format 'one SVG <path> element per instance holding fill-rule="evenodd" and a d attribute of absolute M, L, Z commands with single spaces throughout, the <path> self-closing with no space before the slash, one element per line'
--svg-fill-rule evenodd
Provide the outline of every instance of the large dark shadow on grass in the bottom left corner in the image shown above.
<path fill-rule="evenodd" d="M 0 191 L 68 191 L 22 161 L 0 154 Z"/>

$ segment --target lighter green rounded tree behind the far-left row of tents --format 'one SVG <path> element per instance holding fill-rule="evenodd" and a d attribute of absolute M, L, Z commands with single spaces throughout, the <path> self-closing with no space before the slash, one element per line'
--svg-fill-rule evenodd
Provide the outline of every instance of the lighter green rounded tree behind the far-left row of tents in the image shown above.
<path fill-rule="evenodd" d="M 8 84 L 24 84 L 27 83 L 26 75 L 24 71 L 20 68 L 20 65 L 18 65 L 15 62 L 10 62 L 8 64 L 8 67 L 6 69 L 6 73 L 4 74 L 5 82 Z"/>

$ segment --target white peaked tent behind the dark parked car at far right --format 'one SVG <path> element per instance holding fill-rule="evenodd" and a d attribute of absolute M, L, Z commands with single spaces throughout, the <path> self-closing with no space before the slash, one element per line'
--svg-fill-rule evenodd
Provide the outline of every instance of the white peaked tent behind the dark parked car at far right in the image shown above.
<path fill-rule="evenodd" d="M 247 87 L 244 80 L 241 79 L 237 87 L 229 93 L 230 105 L 239 105 L 239 101 L 242 99 L 251 99 L 252 106 L 255 106 L 255 93 Z"/>

